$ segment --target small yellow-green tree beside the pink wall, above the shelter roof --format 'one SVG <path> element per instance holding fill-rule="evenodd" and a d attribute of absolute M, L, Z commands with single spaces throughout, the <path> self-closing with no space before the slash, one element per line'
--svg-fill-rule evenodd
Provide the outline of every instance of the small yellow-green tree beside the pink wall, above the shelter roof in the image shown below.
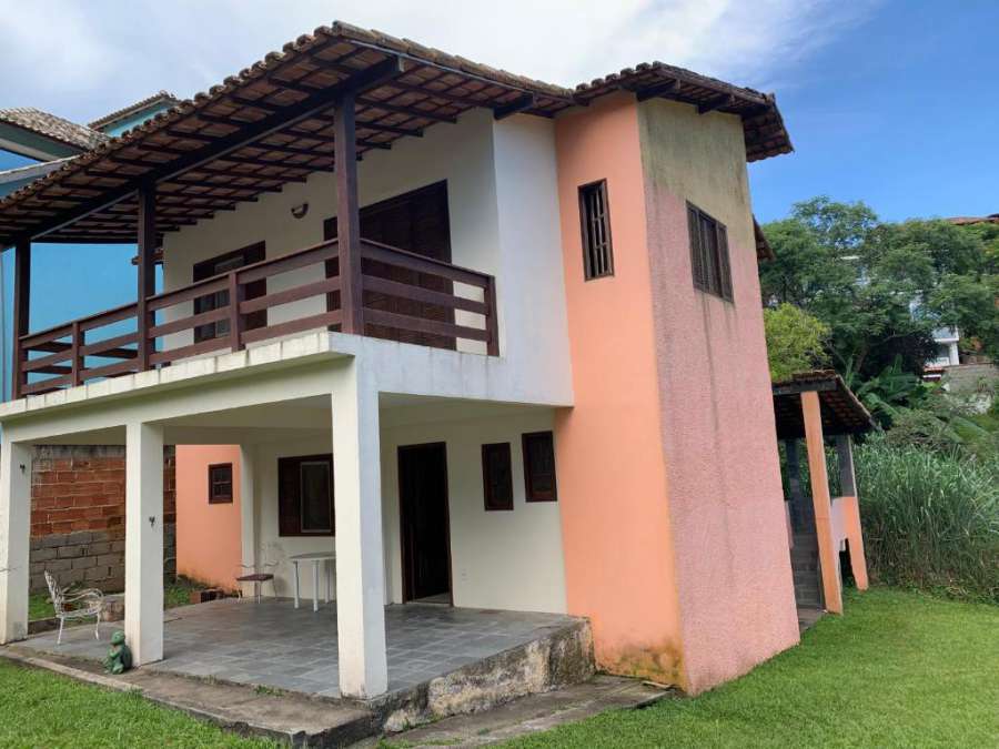
<path fill-rule="evenodd" d="M 770 379 L 789 379 L 826 363 L 829 326 L 794 304 L 764 310 Z"/>

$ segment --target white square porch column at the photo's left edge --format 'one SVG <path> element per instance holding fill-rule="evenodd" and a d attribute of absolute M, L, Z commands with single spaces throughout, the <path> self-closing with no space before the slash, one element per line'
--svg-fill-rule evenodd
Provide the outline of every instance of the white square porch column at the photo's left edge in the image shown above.
<path fill-rule="evenodd" d="M 0 445 L 0 645 L 28 637 L 31 445 Z"/>

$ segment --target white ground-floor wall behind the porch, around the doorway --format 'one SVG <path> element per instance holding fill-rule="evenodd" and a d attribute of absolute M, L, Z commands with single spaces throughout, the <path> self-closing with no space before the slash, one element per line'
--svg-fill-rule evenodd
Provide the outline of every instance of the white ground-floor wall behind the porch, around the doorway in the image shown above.
<path fill-rule="evenodd" d="M 446 417 L 447 421 L 437 421 Z M 448 510 L 455 606 L 522 611 L 565 611 L 562 527 L 557 503 L 527 503 L 521 435 L 551 429 L 551 409 L 518 408 L 509 415 L 457 418 L 422 411 L 418 423 L 382 412 L 382 519 L 386 603 L 402 603 L 402 541 L 398 512 L 397 449 L 402 445 L 447 445 Z M 514 509 L 486 512 L 483 505 L 482 445 L 511 443 Z M 307 551 L 335 550 L 335 538 L 280 537 L 278 533 L 278 459 L 332 452 L 326 438 L 264 443 L 254 448 L 258 555 L 276 561 L 276 591 L 291 596 L 293 567 L 287 558 Z M 335 462 L 334 455 L 334 462 Z M 320 594 L 325 578 L 320 578 Z M 302 565 L 303 596 L 312 596 L 312 565 Z M 333 586 L 335 594 L 335 585 Z M 270 588 L 264 593 L 270 595 Z"/>

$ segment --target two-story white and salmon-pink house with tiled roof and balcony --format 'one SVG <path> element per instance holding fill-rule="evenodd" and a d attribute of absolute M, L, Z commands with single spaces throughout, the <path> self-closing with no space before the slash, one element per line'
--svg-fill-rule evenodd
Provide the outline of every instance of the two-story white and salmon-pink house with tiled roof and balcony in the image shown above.
<path fill-rule="evenodd" d="M 795 644 L 746 172 L 790 149 L 773 95 L 690 71 L 566 89 L 336 23 L 0 200 L 0 641 L 32 447 L 79 443 L 125 446 L 140 665 L 165 445 L 239 445 L 206 502 L 239 487 L 248 565 L 335 551 L 345 696 L 423 599 L 586 617 L 601 667 L 690 691 Z M 32 330 L 40 241 L 138 243 L 135 302 Z"/>

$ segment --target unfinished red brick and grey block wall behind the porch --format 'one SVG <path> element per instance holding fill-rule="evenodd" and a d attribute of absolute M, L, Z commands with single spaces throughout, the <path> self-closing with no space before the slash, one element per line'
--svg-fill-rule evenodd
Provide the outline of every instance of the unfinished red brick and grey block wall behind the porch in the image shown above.
<path fill-rule="evenodd" d="M 44 570 L 60 585 L 124 588 L 124 448 L 44 445 L 31 470 L 31 590 Z M 163 455 L 164 574 L 176 574 L 175 458 Z"/>

